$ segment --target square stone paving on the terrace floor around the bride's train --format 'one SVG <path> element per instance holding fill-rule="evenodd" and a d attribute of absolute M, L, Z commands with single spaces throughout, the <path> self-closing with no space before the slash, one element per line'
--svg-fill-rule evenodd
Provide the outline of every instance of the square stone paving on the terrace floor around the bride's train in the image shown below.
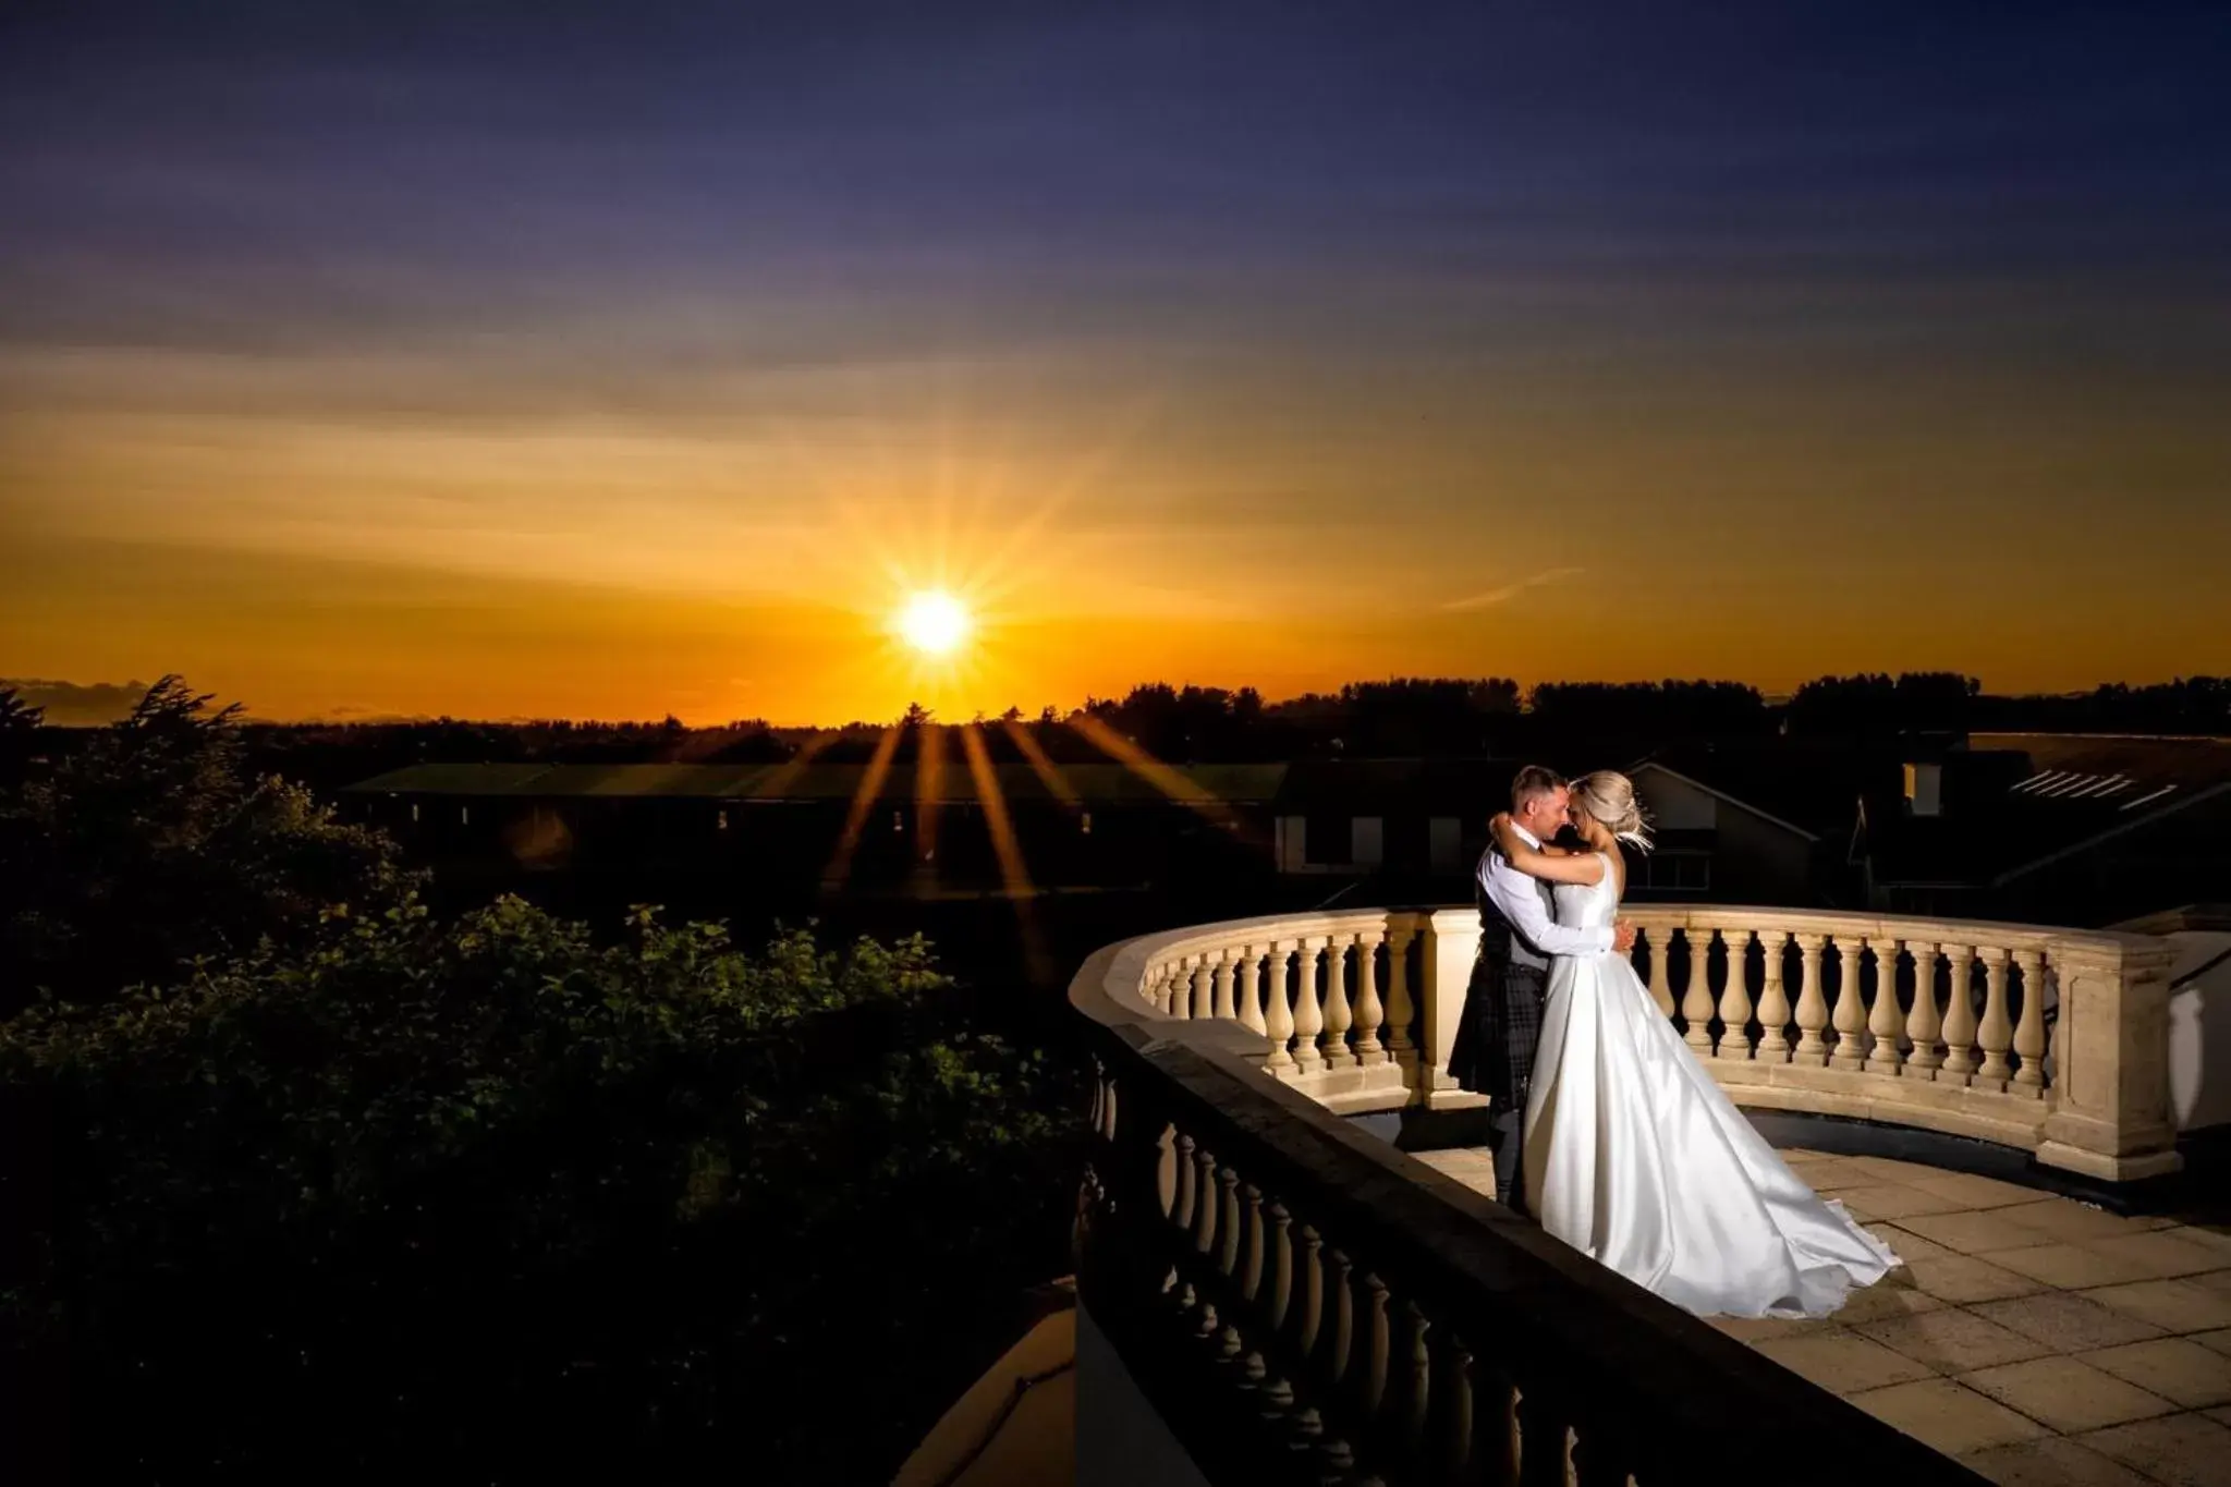
<path fill-rule="evenodd" d="M 1419 1153 L 1481 1193 L 1481 1150 Z M 2231 1228 L 1785 1150 L 1905 1266 L 1834 1318 L 1713 1318 L 2006 1487 L 2231 1487 Z"/>

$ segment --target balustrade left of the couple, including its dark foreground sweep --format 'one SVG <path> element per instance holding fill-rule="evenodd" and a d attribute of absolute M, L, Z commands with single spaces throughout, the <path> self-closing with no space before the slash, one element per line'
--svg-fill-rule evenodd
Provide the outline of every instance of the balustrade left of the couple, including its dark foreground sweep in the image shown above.
<path fill-rule="evenodd" d="M 1310 1092 L 1430 1097 L 1437 921 L 1207 925 L 1071 983 L 1080 1487 L 1979 1485 Z"/>

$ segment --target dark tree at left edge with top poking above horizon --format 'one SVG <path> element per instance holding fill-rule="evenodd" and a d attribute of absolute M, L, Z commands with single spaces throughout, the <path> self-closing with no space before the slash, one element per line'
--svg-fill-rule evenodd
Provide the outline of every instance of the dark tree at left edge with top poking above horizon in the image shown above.
<path fill-rule="evenodd" d="M 239 707 L 165 676 L 132 716 L 0 796 L 0 1014 L 38 990 L 98 999 L 183 961 L 292 939 L 332 905 L 379 912 L 395 845 L 241 767 Z"/>

